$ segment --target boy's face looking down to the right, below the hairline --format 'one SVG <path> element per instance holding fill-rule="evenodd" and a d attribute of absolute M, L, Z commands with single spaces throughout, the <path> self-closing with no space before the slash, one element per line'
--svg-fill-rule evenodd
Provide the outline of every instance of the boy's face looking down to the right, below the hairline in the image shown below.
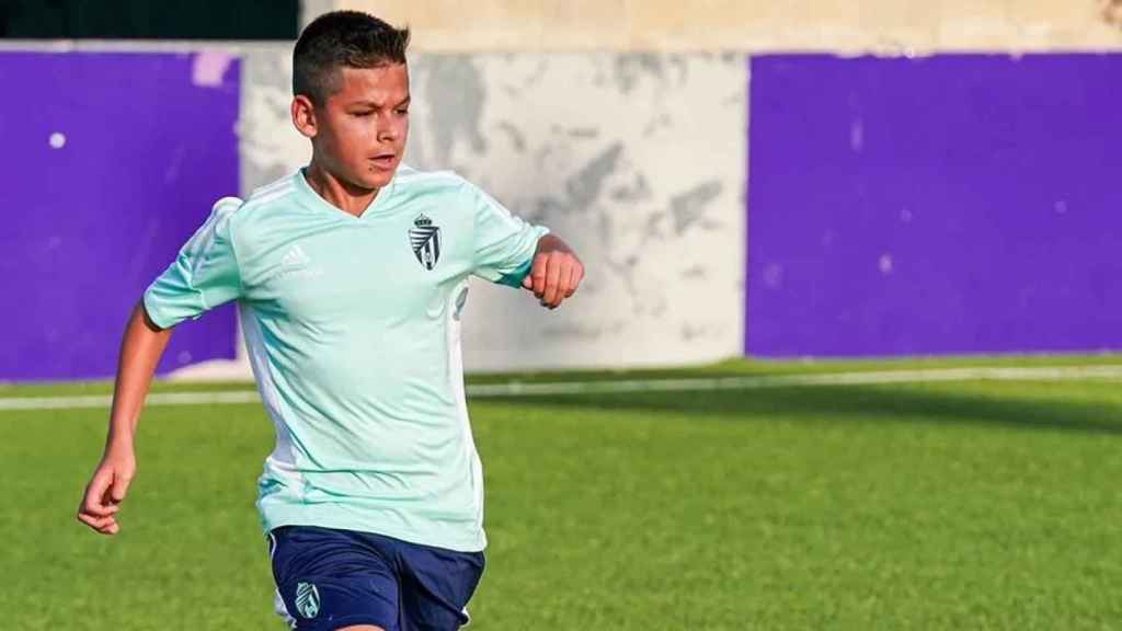
<path fill-rule="evenodd" d="M 393 179 L 405 152 L 408 68 L 405 64 L 343 67 L 338 85 L 327 102 L 309 112 L 311 125 L 301 125 L 294 104 L 296 127 L 312 138 L 315 158 L 335 177 L 360 189 L 380 189 Z"/>

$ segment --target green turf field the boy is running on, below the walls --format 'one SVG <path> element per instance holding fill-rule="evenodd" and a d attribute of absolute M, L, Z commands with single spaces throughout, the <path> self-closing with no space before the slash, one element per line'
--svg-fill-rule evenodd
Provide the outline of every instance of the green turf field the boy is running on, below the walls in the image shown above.
<path fill-rule="evenodd" d="M 1079 364 L 1122 358 L 517 378 Z M 0 399 L 108 388 L 3 386 Z M 1122 628 L 1122 382 L 570 394 L 470 409 L 491 542 L 471 604 L 479 631 Z M 283 629 L 252 507 L 273 443 L 260 408 L 149 408 L 112 539 L 74 520 L 104 430 L 103 410 L 0 411 L 2 627 Z"/>

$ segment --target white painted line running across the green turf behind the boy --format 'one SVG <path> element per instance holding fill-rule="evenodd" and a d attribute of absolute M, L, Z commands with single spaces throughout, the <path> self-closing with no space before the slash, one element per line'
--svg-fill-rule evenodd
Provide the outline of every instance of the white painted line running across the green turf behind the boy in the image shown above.
<path fill-rule="evenodd" d="M 625 379 L 558 383 L 502 383 L 469 385 L 472 397 L 546 396 L 558 394 L 620 394 L 629 392 L 691 392 L 717 390 L 761 390 L 774 387 L 824 387 L 839 385 L 881 385 L 931 382 L 1063 382 L 1079 379 L 1122 381 L 1122 365 L 1040 366 L 1022 368 L 926 368 L 916 371 L 866 371 L 799 375 L 746 375 L 743 377 L 695 377 L 679 379 Z M 226 405 L 256 403 L 256 391 L 175 392 L 149 394 L 147 405 Z M 90 396 L 10 396 L 0 397 L 4 410 L 108 409 L 110 395 Z"/>

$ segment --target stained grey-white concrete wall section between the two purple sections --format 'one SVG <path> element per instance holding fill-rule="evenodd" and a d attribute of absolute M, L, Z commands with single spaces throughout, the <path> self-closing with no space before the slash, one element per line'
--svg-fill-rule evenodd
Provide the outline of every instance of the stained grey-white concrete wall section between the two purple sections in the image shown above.
<path fill-rule="evenodd" d="M 306 163 L 286 47 L 245 57 L 242 190 Z M 569 240 L 548 312 L 477 280 L 469 369 L 711 360 L 743 342 L 746 67 L 737 54 L 415 54 L 406 161 L 452 168 Z"/>

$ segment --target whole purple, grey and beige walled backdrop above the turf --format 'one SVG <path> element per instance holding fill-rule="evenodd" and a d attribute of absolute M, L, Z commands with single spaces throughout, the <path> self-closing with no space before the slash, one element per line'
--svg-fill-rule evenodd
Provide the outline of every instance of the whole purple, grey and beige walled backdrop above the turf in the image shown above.
<path fill-rule="evenodd" d="M 292 40 L 339 8 L 414 29 L 406 159 L 588 263 L 550 318 L 476 283 L 470 369 L 1122 345 L 1115 2 L 7 0 L 0 379 L 110 376 L 211 202 L 305 163 Z"/>

